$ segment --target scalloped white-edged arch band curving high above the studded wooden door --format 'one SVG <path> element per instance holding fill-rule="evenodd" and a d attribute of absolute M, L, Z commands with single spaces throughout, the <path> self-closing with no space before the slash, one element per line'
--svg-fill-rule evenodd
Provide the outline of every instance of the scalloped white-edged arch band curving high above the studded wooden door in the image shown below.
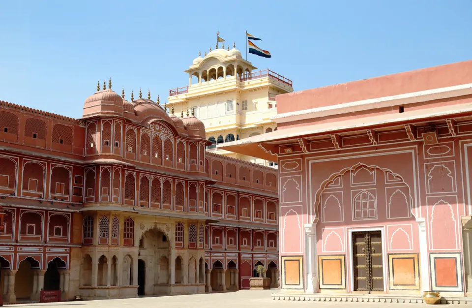
<path fill-rule="evenodd" d="M 326 180 L 324 180 L 320 184 L 320 188 L 318 188 L 318 190 L 315 193 L 315 202 L 313 203 L 313 208 L 314 208 L 313 223 L 316 223 L 320 218 L 321 193 L 324 191 L 324 189 L 326 187 L 328 187 L 329 185 L 334 184 L 334 182 L 336 181 L 336 179 L 339 176 L 344 176 L 349 171 L 356 172 L 357 170 L 359 170 L 361 168 L 364 168 L 364 169 L 367 169 L 367 170 L 377 169 L 377 170 L 382 171 L 384 174 L 389 173 L 389 174 L 393 175 L 394 179 L 398 179 L 398 183 L 403 183 L 404 185 L 408 186 L 408 188 L 410 188 L 410 186 L 405 182 L 405 179 L 401 175 L 399 175 L 397 173 L 394 173 L 392 170 L 390 170 L 388 168 L 381 168 L 381 167 L 376 166 L 376 165 L 366 165 L 366 164 L 363 164 L 363 163 L 359 162 L 359 163 L 355 164 L 352 167 L 347 167 L 347 168 L 341 169 L 341 171 L 339 171 L 339 172 L 331 174 Z M 413 200 L 411 195 L 410 195 L 410 198 L 411 198 L 411 200 Z M 412 204 L 412 207 L 411 207 L 411 213 L 416 218 L 415 214 L 413 213 L 413 204 Z"/>

